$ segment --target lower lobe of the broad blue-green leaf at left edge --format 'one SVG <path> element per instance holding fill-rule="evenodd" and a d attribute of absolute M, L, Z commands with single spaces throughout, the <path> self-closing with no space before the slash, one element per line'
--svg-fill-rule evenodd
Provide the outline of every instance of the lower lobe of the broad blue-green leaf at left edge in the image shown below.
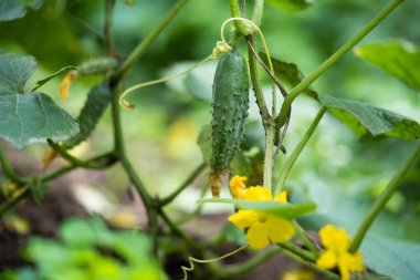
<path fill-rule="evenodd" d="M 35 143 L 65 141 L 78 132 L 69 113 L 44 93 L 0 95 L 0 137 L 17 148 Z"/>

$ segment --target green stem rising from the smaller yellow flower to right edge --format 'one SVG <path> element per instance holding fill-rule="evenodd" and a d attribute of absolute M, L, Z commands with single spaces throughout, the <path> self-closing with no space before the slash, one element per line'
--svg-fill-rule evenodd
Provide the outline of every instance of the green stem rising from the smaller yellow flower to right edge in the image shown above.
<path fill-rule="evenodd" d="M 392 180 L 388 184 L 387 188 L 382 191 L 378 200 L 376 200 L 376 203 L 371 207 L 370 212 L 368 214 L 368 216 L 365 218 L 364 222 L 360 225 L 359 229 L 357 230 L 357 234 L 349 248 L 350 252 L 355 252 L 359 249 L 365 238 L 365 235 L 369 230 L 375 218 L 379 215 L 379 212 L 384 209 L 388 200 L 401 186 L 401 182 L 403 177 L 406 176 L 407 172 L 410 169 L 410 167 L 416 163 L 416 160 L 419 157 L 420 157 L 420 143 L 417 145 L 417 147 L 414 148 L 414 152 L 406 162 L 405 166 L 402 166 L 402 168 L 393 176 Z"/>

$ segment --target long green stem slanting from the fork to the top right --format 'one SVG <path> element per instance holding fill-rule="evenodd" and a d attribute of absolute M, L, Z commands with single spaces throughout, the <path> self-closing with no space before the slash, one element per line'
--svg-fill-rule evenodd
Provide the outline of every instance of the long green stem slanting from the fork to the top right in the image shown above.
<path fill-rule="evenodd" d="M 389 13 L 391 13 L 403 0 L 393 0 L 388 7 L 386 7 L 381 12 L 379 12 L 365 28 L 363 28 L 359 33 L 357 33 L 353 39 L 350 39 L 345 45 L 343 45 L 336 53 L 334 53 L 329 59 L 327 59 L 323 64 L 321 64 L 315 71 L 313 71 L 308 76 L 302 80 L 287 95 L 284 100 L 282 110 L 279 114 L 279 123 L 283 126 L 286 121 L 287 113 L 291 108 L 293 101 L 316 79 L 318 79 L 325 71 L 333 66 L 344 54 L 353 49 L 361 39 L 364 39 L 372 29 L 375 29 Z M 280 126 L 280 127 L 281 127 Z"/>

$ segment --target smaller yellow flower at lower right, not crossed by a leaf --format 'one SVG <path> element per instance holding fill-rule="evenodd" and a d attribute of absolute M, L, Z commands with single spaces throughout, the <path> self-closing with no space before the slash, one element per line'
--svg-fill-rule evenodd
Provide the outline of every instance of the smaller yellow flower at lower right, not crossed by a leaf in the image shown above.
<path fill-rule="evenodd" d="M 348 252 L 350 237 L 344 228 L 327 225 L 319 230 L 319 237 L 326 250 L 317 259 L 317 266 L 325 269 L 338 267 L 342 280 L 349 280 L 350 271 L 364 270 L 361 252 Z"/>

